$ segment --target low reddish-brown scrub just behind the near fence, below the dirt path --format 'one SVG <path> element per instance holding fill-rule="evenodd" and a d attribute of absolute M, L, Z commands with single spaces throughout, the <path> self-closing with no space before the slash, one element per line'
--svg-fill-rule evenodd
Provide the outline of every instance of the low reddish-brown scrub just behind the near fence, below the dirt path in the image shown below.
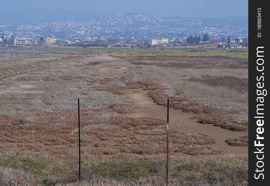
<path fill-rule="evenodd" d="M 81 146 L 85 149 L 102 147 L 100 150 L 106 155 L 118 152 L 142 155 L 166 153 L 166 121 L 121 117 L 114 107 L 82 108 Z M 27 115 L 31 116 L 30 121 L 23 120 Z M 18 149 L 27 152 L 44 151 L 48 146 L 49 153 L 55 153 L 57 149 L 67 152 L 74 150 L 78 141 L 76 111 L 35 111 L 27 115 L 0 116 L 0 138 L 3 144 L 16 144 Z M 170 149 L 177 153 L 179 149 L 181 153 L 191 155 L 221 153 L 210 146 L 216 142 L 205 134 L 171 131 L 171 140 Z M 115 148 L 112 149 L 113 146 Z"/>

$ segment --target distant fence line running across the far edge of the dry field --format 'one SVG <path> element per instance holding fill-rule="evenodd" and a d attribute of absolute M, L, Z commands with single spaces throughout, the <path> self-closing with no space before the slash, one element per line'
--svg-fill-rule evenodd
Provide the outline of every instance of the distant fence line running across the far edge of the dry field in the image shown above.
<path fill-rule="evenodd" d="M 50 50 L 40 50 L 40 51 L 14 51 L 14 50 L 2 50 L 0 55 L 2 58 L 5 56 L 15 56 L 15 57 L 35 57 L 35 56 L 45 56 L 45 57 L 66 57 L 74 55 L 74 51 L 50 51 Z M 86 55 L 89 57 L 95 56 L 111 56 L 118 57 L 121 59 L 131 59 L 131 58 L 161 58 L 161 57 L 204 57 L 204 58 L 214 58 L 214 59 L 231 59 L 231 58 L 242 58 L 248 59 L 248 52 L 230 52 L 230 51 L 87 51 Z"/>

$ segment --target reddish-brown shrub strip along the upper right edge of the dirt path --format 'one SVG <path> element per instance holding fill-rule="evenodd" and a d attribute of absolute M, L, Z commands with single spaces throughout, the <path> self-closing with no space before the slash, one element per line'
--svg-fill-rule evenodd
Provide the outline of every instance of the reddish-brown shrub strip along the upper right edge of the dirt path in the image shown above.
<path fill-rule="evenodd" d="M 150 81 L 128 82 L 127 86 L 131 89 L 149 90 L 148 95 L 154 99 L 154 102 L 159 105 L 167 105 L 169 99 L 169 106 L 175 109 L 181 109 L 184 112 L 196 113 L 198 120 L 201 123 L 214 124 L 214 126 L 221 126 L 224 129 L 231 129 L 233 131 L 247 131 L 248 122 L 238 122 L 232 115 L 239 113 L 236 110 L 224 110 L 213 106 L 203 106 L 194 102 L 186 101 L 187 98 L 169 96 L 166 94 L 168 88 Z"/>

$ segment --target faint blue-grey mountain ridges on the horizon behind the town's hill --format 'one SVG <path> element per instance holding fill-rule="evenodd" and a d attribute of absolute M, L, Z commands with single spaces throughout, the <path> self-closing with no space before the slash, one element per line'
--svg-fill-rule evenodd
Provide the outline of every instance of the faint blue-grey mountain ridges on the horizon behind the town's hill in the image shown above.
<path fill-rule="evenodd" d="M 18 11 L 0 12 L 0 24 L 34 24 L 54 21 L 67 20 L 92 20 L 99 19 L 111 14 L 105 13 L 83 13 L 64 9 L 44 10 L 44 9 L 25 9 Z M 151 17 L 151 16 L 150 16 Z M 203 20 L 207 18 L 188 18 L 189 20 Z M 209 21 L 217 21 L 224 24 L 230 23 L 234 25 L 248 25 L 248 16 L 237 15 L 226 18 L 209 18 Z"/>

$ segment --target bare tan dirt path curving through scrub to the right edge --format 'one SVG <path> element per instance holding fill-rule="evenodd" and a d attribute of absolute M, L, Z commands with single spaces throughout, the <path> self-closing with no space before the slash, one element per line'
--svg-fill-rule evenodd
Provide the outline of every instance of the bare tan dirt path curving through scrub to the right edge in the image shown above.
<path fill-rule="evenodd" d="M 148 97 L 147 91 L 128 93 L 128 99 L 134 100 L 134 110 L 131 113 L 134 117 L 149 117 L 167 120 L 167 108 L 154 103 Z M 202 124 L 194 119 L 194 113 L 186 113 L 182 110 L 169 108 L 169 129 L 179 133 L 205 133 L 209 138 L 214 138 L 217 143 L 212 145 L 224 153 L 248 153 L 248 147 L 236 147 L 224 142 L 228 138 L 236 138 L 247 135 L 248 131 L 231 131 L 212 124 Z"/>

